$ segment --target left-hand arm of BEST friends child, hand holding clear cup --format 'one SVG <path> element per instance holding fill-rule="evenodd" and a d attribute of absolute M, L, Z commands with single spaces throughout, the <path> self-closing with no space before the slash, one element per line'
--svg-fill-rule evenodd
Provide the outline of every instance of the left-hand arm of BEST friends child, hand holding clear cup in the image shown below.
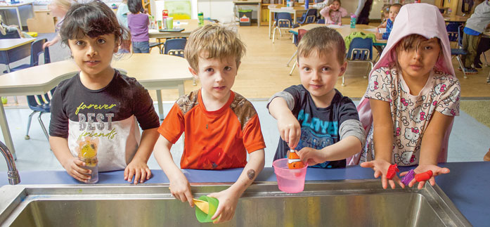
<path fill-rule="evenodd" d="M 82 168 L 85 166 L 85 162 L 79 160 L 78 157 L 73 157 L 70 148 L 68 148 L 67 138 L 49 136 L 49 145 L 51 145 L 51 150 L 53 150 L 58 162 L 70 176 L 82 182 L 90 179 L 91 170 Z"/>

